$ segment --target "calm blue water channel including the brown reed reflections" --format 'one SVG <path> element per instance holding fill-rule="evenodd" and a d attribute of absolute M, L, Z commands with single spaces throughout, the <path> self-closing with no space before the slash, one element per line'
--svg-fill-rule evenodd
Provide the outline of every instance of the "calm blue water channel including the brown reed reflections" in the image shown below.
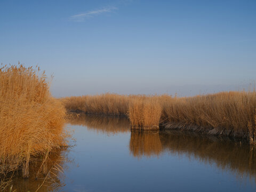
<path fill-rule="evenodd" d="M 255 151 L 240 142 L 173 131 L 131 132 L 129 121 L 118 118 L 82 116 L 67 126 L 74 130 L 74 146 L 51 157 L 46 173 L 56 169 L 38 191 L 256 190 Z M 60 155 L 66 161 L 57 161 Z M 14 178 L 14 188 L 35 191 L 44 179 L 32 178 Z"/>

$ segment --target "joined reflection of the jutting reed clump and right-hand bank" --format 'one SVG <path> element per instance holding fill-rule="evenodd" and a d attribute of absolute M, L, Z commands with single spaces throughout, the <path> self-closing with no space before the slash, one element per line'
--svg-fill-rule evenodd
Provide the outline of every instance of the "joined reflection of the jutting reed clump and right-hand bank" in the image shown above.
<path fill-rule="evenodd" d="M 132 131 L 130 153 L 134 157 L 159 157 L 164 153 L 186 155 L 198 161 L 231 171 L 239 178 L 256 176 L 256 153 L 249 145 L 233 139 L 203 137 L 178 131 Z M 170 162 L 171 163 L 171 162 Z"/>

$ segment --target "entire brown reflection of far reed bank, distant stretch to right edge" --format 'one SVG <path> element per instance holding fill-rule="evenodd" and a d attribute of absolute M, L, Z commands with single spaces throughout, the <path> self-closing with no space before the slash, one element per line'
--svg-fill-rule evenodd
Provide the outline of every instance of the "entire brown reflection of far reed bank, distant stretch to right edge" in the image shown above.
<path fill-rule="evenodd" d="M 115 134 L 129 132 L 127 118 L 80 114 L 69 120 L 73 125 L 84 125 L 89 130 Z M 227 137 L 211 137 L 193 132 L 173 130 L 131 131 L 130 154 L 137 158 L 159 157 L 164 153 L 186 155 L 202 163 L 215 164 L 223 171 L 239 177 L 256 176 L 256 153 L 247 143 Z"/>

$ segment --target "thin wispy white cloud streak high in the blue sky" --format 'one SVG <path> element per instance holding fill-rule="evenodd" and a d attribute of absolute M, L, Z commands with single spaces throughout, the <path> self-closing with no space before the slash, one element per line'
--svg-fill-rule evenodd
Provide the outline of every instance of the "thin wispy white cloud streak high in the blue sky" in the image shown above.
<path fill-rule="evenodd" d="M 70 19 L 73 21 L 84 21 L 86 18 L 91 18 L 102 13 L 110 13 L 114 10 L 117 10 L 117 7 L 103 7 L 102 9 L 87 11 L 85 13 L 73 15 L 70 17 Z"/>

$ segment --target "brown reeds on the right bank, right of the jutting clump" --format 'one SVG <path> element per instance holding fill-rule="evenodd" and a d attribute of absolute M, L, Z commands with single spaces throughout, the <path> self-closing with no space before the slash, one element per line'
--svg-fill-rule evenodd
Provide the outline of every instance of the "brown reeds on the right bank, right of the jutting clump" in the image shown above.
<path fill-rule="evenodd" d="M 172 98 L 163 103 L 162 122 L 194 126 L 210 134 L 248 137 L 255 130 L 256 92 L 220 92 L 190 98 Z M 172 128 L 172 126 L 170 127 Z"/>

